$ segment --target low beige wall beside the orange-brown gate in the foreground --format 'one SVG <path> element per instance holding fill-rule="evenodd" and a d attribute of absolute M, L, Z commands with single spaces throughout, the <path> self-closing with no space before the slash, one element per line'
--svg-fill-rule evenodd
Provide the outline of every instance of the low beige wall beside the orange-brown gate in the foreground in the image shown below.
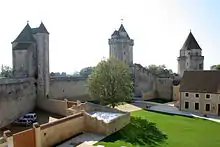
<path fill-rule="evenodd" d="M 51 147 L 82 133 L 85 128 L 84 122 L 83 113 L 78 113 L 41 125 L 41 146 Z"/>

